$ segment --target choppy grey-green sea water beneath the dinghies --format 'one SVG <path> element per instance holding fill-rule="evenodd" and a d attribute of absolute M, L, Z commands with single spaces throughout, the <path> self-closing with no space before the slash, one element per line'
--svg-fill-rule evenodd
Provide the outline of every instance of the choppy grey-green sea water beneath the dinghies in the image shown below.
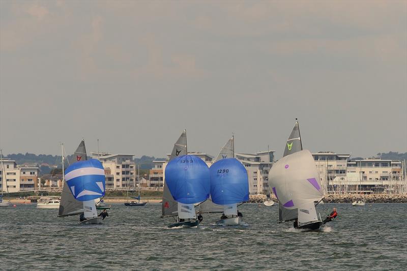
<path fill-rule="evenodd" d="M 405 270 L 407 204 L 318 205 L 338 219 L 322 232 L 277 224 L 277 207 L 240 206 L 246 226 L 168 229 L 161 204 L 112 204 L 103 225 L 78 225 L 35 204 L 1 208 L 0 269 Z"/>

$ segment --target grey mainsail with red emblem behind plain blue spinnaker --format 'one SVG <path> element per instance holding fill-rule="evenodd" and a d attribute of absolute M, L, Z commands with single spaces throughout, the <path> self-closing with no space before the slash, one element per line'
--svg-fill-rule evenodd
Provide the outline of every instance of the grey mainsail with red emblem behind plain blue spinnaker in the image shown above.
<path fill-rule="evenodd" d="M 178 138 L 177 142 L 174 144 L 174 147 L 169 157 L 169 161 L 176 157 L 180 157 L 187 154 L 187 131 L 184 130 Z M 169 162 L 168 161 L 168 162 Z M 162 217 L 172 217 L 178 215 L 178 202 L 174 200 L 169 192 L 168 186 L 164 179 L 164 190 L 162 193 L 162 206 L 161 206 Z"/>

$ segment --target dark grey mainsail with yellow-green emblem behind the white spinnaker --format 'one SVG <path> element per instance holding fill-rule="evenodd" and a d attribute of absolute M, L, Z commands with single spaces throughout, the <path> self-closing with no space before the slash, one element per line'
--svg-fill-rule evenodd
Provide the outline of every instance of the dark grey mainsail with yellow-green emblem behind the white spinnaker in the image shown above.
<path fill-rule="evenodd" d="M 285 143 L 284 155 L 283 157 L 300 152 L 302 150 L 302 142 L 301 142 L 301 135 L 300 135 L 300 126 L 298 122 L 295 123 L 293 131 L 289 135 L 287 142 Z M 283 205 L 278 202 L 278 220 L 279 222 L 282 221 L 290 221 L 295 220 L 298 217 L 298 210 L 290 210 L 284 208 Z"/>

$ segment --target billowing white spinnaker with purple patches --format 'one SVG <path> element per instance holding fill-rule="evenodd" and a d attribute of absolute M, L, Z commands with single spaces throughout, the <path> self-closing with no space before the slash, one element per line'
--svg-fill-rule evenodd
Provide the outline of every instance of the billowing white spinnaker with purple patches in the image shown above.
<path fill-rule="evenodd" d="M 270 170 L 269 185 L 287 209 L 323 198 L 321 182 L 309 150 L 281 158 Z"/>

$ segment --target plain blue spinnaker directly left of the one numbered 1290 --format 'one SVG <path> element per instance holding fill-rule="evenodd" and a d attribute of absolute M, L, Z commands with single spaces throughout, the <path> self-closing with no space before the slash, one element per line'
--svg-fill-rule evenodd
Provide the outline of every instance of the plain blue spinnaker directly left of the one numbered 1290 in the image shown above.
<path fill-rule="evenodd" d="M 172 159 L 165 167 L 165 182 L 178 202 L 191 204 L 209 198 L 209 168 L 197 156 L 183 155 Z"/>

